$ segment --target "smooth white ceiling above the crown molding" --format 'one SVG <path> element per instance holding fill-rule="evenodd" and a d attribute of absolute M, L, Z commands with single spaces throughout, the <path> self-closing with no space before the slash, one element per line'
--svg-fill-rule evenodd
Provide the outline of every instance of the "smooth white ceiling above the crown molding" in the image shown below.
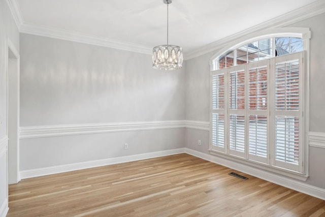
<path fill-rule="evenodd" d="M 169 44 L 184 55 L 245 29 L 323 0 L 174 0 L 169 6 Z M 60 33 L 143 49 L 167 43 L 163 0 L 9 0 L 21 31 Z M 48 34 L 48 35 L 49 35 Z M 42 35 L 42 34 L 38 34 Z M 113 46 L 114 47 L 114 46 Z"/>

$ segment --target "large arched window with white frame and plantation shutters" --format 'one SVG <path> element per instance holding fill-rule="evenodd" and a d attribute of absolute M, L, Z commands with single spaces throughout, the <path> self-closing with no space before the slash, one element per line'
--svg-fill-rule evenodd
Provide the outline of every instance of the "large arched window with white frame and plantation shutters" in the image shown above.
<path fill-rule="evenodd" d="M 210 152 L 304 179 L 310 32 L 294 30 L 269 30 L 212 57 Z"/>

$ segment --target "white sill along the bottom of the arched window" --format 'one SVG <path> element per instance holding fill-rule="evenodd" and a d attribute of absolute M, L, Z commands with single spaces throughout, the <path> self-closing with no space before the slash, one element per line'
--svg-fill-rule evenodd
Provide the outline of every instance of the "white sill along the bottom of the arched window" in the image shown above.
<path fill-rule="evenodd" d="M 265 165 L 263 163 L 248 161 L 246 159 L 238 158 L 238 157 L 231 156 L 229 154 L 225 154 L 225 153 L 215 151 L 215 150 L 211 150 L 211 149 L 209 149 L 209 152 L 210 152 L 210 154 L 212 154 L 214 156 L 220 157 L 220 158 L 222 158 L 222 159 L 224 159 L 226 161 L 228 160 L 228 163 L 230 163 L 230 164 L 239 163 L 240 167 L 246 167 L 246 168 L 248 168 L 250 170 L 256 169 L 256 170 L 259 170 L 259 172 L 262 172 L 262 173 L 265 173 L 267 171 L 267 172 L 271 172 L 271 173 L 274 173 L 274 174 L 277 174 L 277 175 L 285 176 L 287 178 L 294 178 L 294 179 L 297 179 L 297 180 L 300 180 L 300 181 L 306 181 L 308 179 L 308 177 L 309 177 L 307 175 L 308 173 L 301 174 L 301 173 L 288 171 L 288 170 L 285 170 L 285 169 L 271 167 L 271 166 Z M 251 175 L 253 175 L 253 174 L 251 174 Z M 283 178 L 285 178 L 285 177 L 283 177 Z"/>

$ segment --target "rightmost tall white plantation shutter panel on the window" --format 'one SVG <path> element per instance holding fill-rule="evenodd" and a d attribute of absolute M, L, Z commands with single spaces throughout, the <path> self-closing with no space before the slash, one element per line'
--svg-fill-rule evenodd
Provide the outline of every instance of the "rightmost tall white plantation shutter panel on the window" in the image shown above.
<path fill-rule="evenodd" d="M 302 172 L 302 53 L 275 59 L 274 166 Z"/>

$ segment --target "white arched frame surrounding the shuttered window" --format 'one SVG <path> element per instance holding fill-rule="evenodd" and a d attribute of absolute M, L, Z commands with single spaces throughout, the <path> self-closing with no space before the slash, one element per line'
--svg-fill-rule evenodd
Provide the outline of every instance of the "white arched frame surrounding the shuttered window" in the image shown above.
<path fill-rule="evenodd" d="M 210 98 L 210 121 L 211 121 L 211 124 L 210 124 L 209 152 L 211 154 L 214 154 L 216 156 L 219 156 L 219 157 L 222 157 L 222 158 L 225 158 L 225 159 L 232 160 L 234 162 L 244 163 L 245 165 L 248 165 L 248 166 L 258 167 L 258 168 L 261 168 L 261 169 L 264 169 L 264 170 L 267 170 L 267 171 L 271 171 L 271 172 L 281 174 L 281 175 L 284 175 L 284 176 L 288 176 L 288 177 L 293 177 L 293 178 L 296 178 L 296 179 L 299 179 L 299 180 L 306 180 L 308 178 L 308 174 L 309 174 L 308 173 L 309 172 L 308 171 L 309 39 L 310 39 L 311 33 L 310 33 L 309 28 L 279 28 L 279 29 L 266 30 L 264 32 L 260 32 L 260 34 L 258 34 L 258 35 L 259 36 L 254 37 L 253 34 L 250 34 L 250 35 L 247 35 L 246 37 L 244 37 L 244 38 L 247 38 L 246 40 L 240 40 L 239 39 L 239 40 L 234 41 L 231 44 L 227 44 L 227 45 L 224 46 L 225 49 L 221 49 L 219 52 L 217 52 L 210 59 L 210 85 L 211 86 L 210 86 L 210 96 L 209 96 L 209 98 Z M 258 162 L 258 161 L 254 161 L 253 159 L 248 160 L 249 150 L 246 151 L 247 156 L 245 156 L 245 158 L 242 158 L 240 156 L 232 156 L 231 154 L 229 154 L 228 150 L 225 150 L 223 152 L 222 152 L 222 150 L 220 150 L 220 151 L 212 150 L 212 104 L 211 104 L 211 101 L 212 101 L 212 72 L 215 71 L 215 69 L 216 69 L 216 63 L 219 60 L 219 57 L 224 56 L 226 53 L 229 53 L 231 50 L 235 51 L 237 48 L 240 48 L 240 47 L 244 46 L 247 43 L 251 43 L 251 42 L 254 42 L 254 41 L 257 41 L 257 40 L 262 40 L 262 39 L 267 39 L 267 38 L 273 38 L 273 37 L 276 37 L 276 38 L 278 38 L 278 37 L 295 37 L 295 38 L 302 38 L 302 40 L 303 40 L 303 50 L 304 50 L 303 51 L 303 53 L 304 53 L 303 54 L 304 55 L 303 56 L 303 61 L 305 61 L 305 63 L 304 63 L 304 69 L 303 69 L 304 72 L 303 72 L 302 76 L 300 77 L 301 82 L 303 82 L 303 83 L 300 84 L 302 86 L 301 91 L 300 91 L 301 100 L 302 100 L 301 103 L 303 104 L 303 107 L 301 109 L 303 119 L 300 120 L 300 121 L 302 121 L 300 132 L 304 132 L 304 135 L 302 136 L 302 141 L 300 142 L 302 144 L 301 153 L 303 153 L 303 156 L 300 156 L 300 157 L 302 157 L 302 165 L 301 165 L 302 169 L 300 170 L 300 172 L 294 172 L 294 171 L 287 170 L 287 169 L 284 169 L 284 168 L 278 168 L 278 167 L 276 167 L 274 165 L 274 162 L 269 162 L 269 161 L 272 161 L 272 159 L 273 159 L 273 158 L 270 158 L 270 157 L 267 158 L 268 159 L 267 162 Z M 275 47 L 274 44 L 275 44 L 275 40 L 273 40 L 273 47 Z M 272 57 L 272 59 L 274 59 L 274 57 Z M 259 61 L 264 61 L 264 60 L 259 60 Z M 272 60 L 272 61 L 276 61 L 276 60 Z M 255 62 L 253 62 L 253 63 L 255 63 Z M 251 63 L 251 64 L 253 64 L 253 63 Z M 241 66 L 241 65 L 237 65 L 237 66 Z M 273 66 L 275 66 L 275 64 L 272 63 L 272 65 L 270 67 L 273 67 Z M 245 76 L 248 77 L 248 75 L 245 75 Z M 225 77 L 228 77 L 228 76 L 225 76 Z M 268 75 L 268 83 L 270 82 L 269 79 L 270 79 L 270 77 Z M 225 81 L 225 82 L 228 82 L 228 81 Z M 272 88 L 274 88 L 273 86 L 275 84 L 270 84 L 269 83 L 269 85 L 270 86 L 272 85 Z M 245 86 L 248 86 L 247 82 L 245 82 Z M 245 88 L 246 88 L 246 91 L 247 91 L 248 87 L 245 87 Z M 268 96 L 267 97 L 268 105 L 270 105 L 270 99 L 272 98 L 272 97 L 270 97 L 270 94 L 271 94 L 270 91 L 271 91 L 270 88 L 268 88 L 268 95 L 267 95 Z M 228 96 L 228 94 L 226 94 L 226 92 L 227 92 L 227 90 L 225 90 L 224 98 L 228 99 L 229 96 Z M 248 95 L 248 94 L 246 94 L 246 95 Z M 245 100 L 245 104 L 246 104 L 245 106 L 249 106 L 248 99 Z M 225 104 L 224 106 L 226 107 L 227 105 Z M 273 112 L 273 111 L 269 111 L 269 106 L 267 108 L 267 112 Z M 249 114 L 246 114 L 246 119 L 247 119 L 247 115 L 249 115 Z M 275 117 L 275 116 L 273 116 L 273 117 Z M 227 114 L 227 112 L 225 112 L 224 118 L 229 118 L 229 115 Z M 275 118 L 273 118 L 273 119 L 275 121 Z M 273 120 L 268 120 L 268 123 L 267 123 L 268 127 L 269 127 L 269 125 L 274 126 L 274 123 L 271 123 L 271 121 L 273 121 Z M 248 126 L 246 125 L 245 126 L 246 131 L 249 130 L 247 127 Z M 226 138 L 229 138 L 228 135 L 225 135 L 225 138 L 224 138 L 224 140 L 225 140 L 224 141 L 224 147 L 223 147 L 224 149 L 229 148 L 229 142 L 226 141 Z M 273 136 L 268 135 L 268 140 L 270 140 L 270 138 L 272 140 Z M 246 140 L 246 142 L 248 141 L 247 138 L 245 138 L 245 140 Z M 272 142 L 272 141 L 268 141 L 268 142 Z M 221 149 L 223 149 L 223 148 L 221 148 Z M 270 146 L 268 145 L 268 149 L 269 148 L 270 148 Z M 273 150 L 271 150 L 271 151 L 269 150 L 268 153 L 273 153 L 272 151 Z"/>

